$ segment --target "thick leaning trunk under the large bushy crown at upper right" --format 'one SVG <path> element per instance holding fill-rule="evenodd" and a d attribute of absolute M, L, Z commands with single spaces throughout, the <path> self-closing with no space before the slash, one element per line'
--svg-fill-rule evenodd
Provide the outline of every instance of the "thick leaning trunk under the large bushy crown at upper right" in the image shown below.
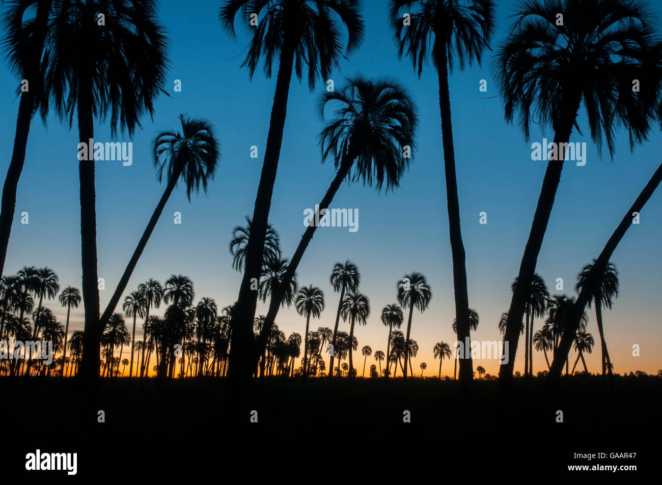
<path fill-rule="evenodd" d="M 559 160 L 550 160 L 547 163 L 547 170 L 540 189 L 538 205 L 534 214 L 534 220 L 531 224 L 529 238 L 524 247 L 520 271 L 517 276 L 517 283 L 510 300 L 508 308 L 508 321 L 506 322 L 506 332 L 504 340 L 508 341 L 508 363 L 500 365 L 499 382 L 500 384 L 510 384 L 512 382 L 512 370 L 515 365 L 515 356 L 517 355 L 517 345 L 519 341 L 520 326 L 524 316 L 524 306 L 531 291 L 531 285 L 536 272 L 536 263 L 542 247 L 542 242 L 547 230 L 549 216 L 556 197 L 556 191 L 561 181 L 561 171 L 563 170 L 563 159 L 565 153 L 560 148 L 559 143 L 567 143 L 577 118 L 579 105 L 581 103 L 581 93 L 579 91 L 566 90 L 561 106 L 559 107 L 559 122 L 555 126 L 554 142 L 559 147 Z M 546 148 L 545 148 L 546 150 Z M 575 335 L 573 332 L 572 335 Z M 571 337 L 572 339 L 573 337 Z M 567 355 L 567 354 L 566 354 Z"/>

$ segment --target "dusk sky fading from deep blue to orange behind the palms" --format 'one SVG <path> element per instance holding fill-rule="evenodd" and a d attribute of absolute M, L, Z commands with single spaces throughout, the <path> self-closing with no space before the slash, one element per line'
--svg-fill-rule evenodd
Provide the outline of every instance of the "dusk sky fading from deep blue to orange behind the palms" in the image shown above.
<path fill-rule="evenodd" d="M 266 79 L 261 70 L 251 80 L 240 65 L 250 40 L 248 31 L 237 25 L 233 40 L 220 28 L 218 0 L 199 0 L 195 9 L 182 9 L 174 1 L 160 2 L 159 19 L 170 39 L 171 66 L 165 89 L 156 103 L 154 119 L 142 120 L 142 130 L 132 139 L 111 138 L 108 124 L 95 122 L 95 141 L 131 141 L 133 163 L 97 161 L 97 245 L 99 277 L 105 279 L 101 308 L 105 308 L 128 259 L 161 197 L 165 184 L 158 183 L 150 146 L 162 130 L 179 128 L 179 114 L 207 118 L 221 144 L 222 160 L 207 195 L 191 195 L 182 187 L 169 198 L 148 245 L 130 279 L 126 293 L 139 283 L 154 278 L 164 283 L 175 274 L 186 275 L 195 285 L 195 301 L 214 298 L 218 307 L 236 301 L 241 274 L 231 267 L 228 251 L 232 228 L 244 225 L 252 215 L 269 116 L 275 89 L 275 75 Z M 499 1 L 493 48 L 506 36 L 513 3 Z M 6 8 L 6 7 L 2 7 Z M 383 0 L 363 2 L 365 40 L 358 52 L 340 63 L 332 74 L 336 87 L 344 77 L 362 73 L 367 77 L 389 75 L 400 81 L 418 105 L 420 126 L 410 168 L 401 187 L 393 193 L 378 193 L 361 183 L 344 183 L 332 208 L 353 208 L 359 212 L 359 230 L 318 228 L 297 275 L 300 285 L 316 285 L 326 298 L 319 321 L 310 326 L 333 328 L 339 294 L 334 293 L 329 275 L 337 261 L 353 261 L 361 272 L 359 290 L 371 304 L 367 325 L 355 328 L 359 349 L 355 367 L 361 373 L 361 347 L 386 351 L 387 328 L 380 320 L 381 309 L 397 301 L 397 282 L 407 273 L 423 273 L 432 288 L 429 308 L 415 311 L 411 337 L 420 350 L 414 357 L 414 373 L 427 364 L 424 376 L 438 375 L 439 361 L 432 347 L 438 341 L 452 345 L 454 317 L 453 271 L 448 239 L 448 212 L 443 171 L 443 151 L 438 103 L 438 81 L 430 64 L 420 79 L 406 59 L 399 60 Z M 658 16 L 662 9 L 656 6 Z M 459 190 L 462 236 L 467 255 L 469 306 L 479 313 L 480 323 L 472 339 L 500 341 L 496 325 L 510 305 L 510 283 L 518 273 L 528 238 L 546 162 L 532 160 L 531 144 L 551 140 L 551 129 L 532 130 L 524 140 L 516 125 L 506 124 L 502 102 L 491 69 L 493 53 L 483 66 L 453 71 L 449 83 L 453 142 Z M 4 67 L 2 67 L 4 66 Z M 15 134 L 19 99 L 18 79 L 7 62 L 0 66 L 0 173 L 6 173 Z M 276 67 L 274 67 L 274 72 Z M 175 92 L 175 79 L 181 92 Z M 481 79 L 487 92 L 480 92 Z M 279 170 L 269 220 L 281 237 L 286 257 L 291 257 L 305 227 L 304 211 L 314 208 L 332 177 L 332 163 L 320 163 L 317 134 L 324 126 L 315 103 L 326 85 L 318 82 L 314 91 L 307 81 L 295 77 L 290 87 L 287 121 L 283 134 Z M 589 128 L 583 112 L 578 118 L 581 132 Z M 551 294 L 575 295 L 577 273 L 597 257 L 624 213 L 639 195 L 660 163 L 662 136 L 655 131 L 649 142 L 630 151 L 627 132 L 616 134 L 613 159 L 598 152 L 589 136 L 573 131 L 571 142 L 586 142 L 587 163 L 566 163 L 553 212 L 538 258 L 537 272 Z M 5 274 L 21 267 L 48 266 L 60 277 L 60 287 L 81 287 L 78 133 L 53 115 L 46 125 L 32 123 L 26 160 L 19 182 L 16 216 L 5 263 Z M 258 158 L 250 157 L 258 147 Z M 28 212 L 29 223 L 21 224 Z M 181 224 L 174 213 L 181 212 Z M 487 212 L 487 224 L 479 214 Z M 620 277 L 620 294 L 611 311 L 603 312 L 604 332 L 614 372 L 641 370 L 655 373 L 662 368 L 662 193 L 657 191 L 614 252 L 612 262 Z M 563 279 L 563 290 L 556 281 Z M 267 302 L 268 303 L 268 302 Z M 66 308 L 57 300 L 45 303 L 58 320 L 66 320 Z M 120 310 L 120 308 L 118 308 Z M 162 315 L 162 306 L 156 314 Z M 258 314 L 267 305 L 258 303 Z M 286 335 L 305 332 L 305 319 L 294 308 L 284 308 L 276 323 Z M 534 330 L 542 326 L 534 322 Z M 131 320 L 126 319 L 131 330 Z M 404 326 L 403 326 L 404 328 Z M 72 310 L 70 333 L 83 329 L 83 310 Z M 349 331 L 341 321 L 340 330 Z M 594 312 L 589 310 L 588 330 L 596 340 L 586 356 L 589 371 L 600 371 L 600 347 Z M 142 339 L 142 322 L 136 326 L 136 340 Z M 524 337 L 516 360 L 516 371 L 524 368 Z M 632 346 L 639 345 L 635 357 Z M 302 347 L 303 350 L 303 347 Z M 128 357 L 124 349 L 123 357 Z M 571 353 L 571 363 L 576 354 Z M 326 359 L 328 361 L 328 359 Z M 366 372 L 375 360 L 367 359 Z M 328 362 L 327 362 L 328 364 Z M 498 373 L 498 360 L 475 360 L 487 373 Z M 581 361 L 578 364 L 581 368 Z M 534 352 L 534 373 L 546 370 L 542 353 Z M 127 370 L 128 372 L 128 370 Z M 400 371 L 399 371 L 400 373 Z M 452 361 L 444 361 L 442 375 L 453 374 Z"/>

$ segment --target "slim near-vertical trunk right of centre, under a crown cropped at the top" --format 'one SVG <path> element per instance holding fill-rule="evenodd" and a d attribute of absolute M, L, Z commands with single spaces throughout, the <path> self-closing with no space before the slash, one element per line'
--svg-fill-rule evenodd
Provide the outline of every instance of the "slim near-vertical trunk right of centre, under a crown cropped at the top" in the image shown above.
<path fill-rule="evenodd" d="M 443 32 L 440 32 L 443 34 Z M 439 78 L 439 107 L 442 116 L 442 145 L 444 148 L 444 170 L 446 171 L 446 203 L 448 204 L 448 235 L 453 259 L 453 291 L 455 292 L 455 318 L 457 319 L 457 340 L 467 343 L 469 335 L 469 293 L 467 291 L 467 267 L 459 222 L 459 198 L 457 196 L 457 177 L 455 175 L 455 149 L 453 148 L 453 128 L 451 125 L 451 101 L 448 87 L 448 60 L 446 58 L 446 35 L 436 36 L 440 44 L 435 46 L 437 75 Z M 409 337 L 407 336 L 407 344 Z M 470 343 L 470 342 L 469 342 Z M 404 356 L 404 376 L 406 361 Z M 459 363 L 459 379 L 473 380 L 473 362 L 469 358 Z"/>

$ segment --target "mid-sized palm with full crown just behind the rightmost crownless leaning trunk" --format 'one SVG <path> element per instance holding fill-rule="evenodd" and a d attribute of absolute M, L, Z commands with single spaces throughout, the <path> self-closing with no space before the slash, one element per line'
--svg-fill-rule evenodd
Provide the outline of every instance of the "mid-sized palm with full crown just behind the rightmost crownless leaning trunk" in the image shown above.
<path fill-rule="evenodd" d="M 595 319 L 598 323 L 598 331 L 600 333 L 600 349 L 602 351 L 602 375 L 607 372 L 607 369 L 610 367 L 609 364 L 609 352 L 607 351 L 607 343 L 604 339 L 604 330 L 602 328 L 602 307 L 612 309 L 612 304 L 614 304 L 614 299 L 618 297 L 618 271 L 613 263 L 607 263 L 602 273 L 598 275 L 595 279 L 589 279 L 591 275 L 591 270 L 595 264 L 595 259 L 593 263 L 586 265 L 582 268 L 579 276 L 577 277 L 577 285 L 575 290 L 577 293 L 580 293 L 582 288 L 589 285 L 589 282 L 592 282 L 592 287 L 587 288 L 589 291 L 589 302 L 588 306 L 591 308 L 591 304 L 595 304 Z"/>

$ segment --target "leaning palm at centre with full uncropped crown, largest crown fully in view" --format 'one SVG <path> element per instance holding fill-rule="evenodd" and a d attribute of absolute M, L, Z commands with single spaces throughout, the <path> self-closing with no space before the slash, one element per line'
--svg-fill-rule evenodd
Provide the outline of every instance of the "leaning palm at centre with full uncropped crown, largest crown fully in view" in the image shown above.
<path fill-rule="evenodd" d="M 322 215 L 332 215 L 326 211 L 342 181 L 361 180 L 364 185 L 374 183 L 377 190 L 383 187 L 385 191 L 395 190 L 409 163 L 403 147 L 415 148 L 418 123 L 416 107 L 406 90 L 395 81 L 350 77 L 345 87 L 339 91 L 326 92 L 320 97 L 318 109 L 322 116 L 324 107 L 332 101 L 339 103 L 337 116 L 326 124 L 319 139 L 322 162 L 333 155 L 336 176 L 316 207 L 316 214 L 311 214 L 310 223 L 292 257 L 289 273 L 284 277 L 285 281 L 294 274 L 312 240 L 318 226 L 313 221 L 319 220 Z M 272 298 L 267 313 L 267 328 L 275 321 L 278 310 L 278 298 Z M 263 345 L 265 335 L 261 335 L 260 345 Z"/>

